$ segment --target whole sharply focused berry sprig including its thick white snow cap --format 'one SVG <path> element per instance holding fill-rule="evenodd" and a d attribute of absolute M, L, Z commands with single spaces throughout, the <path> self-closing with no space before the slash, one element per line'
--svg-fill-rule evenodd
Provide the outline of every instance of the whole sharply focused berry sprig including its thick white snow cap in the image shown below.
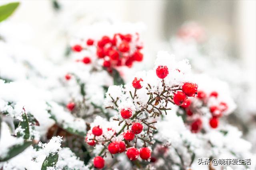
<path fill-rule="evenodd" d="M 86 143 L 103 146 L 98 152 L 100 159 L 96 156 L 92 166 L 103 168 L 98 164 L 104 162 L 102 159 L 108 153 L 114 158 L 114 154 L 124 150 L 131 161 L 138 161 L 139 157 L 150 160 L 155 124 L 172 107 L 184 104 L 197 94 L 198 87 L 190 80 L 189 68 L 187 61 L 176 62 L 168 53 L 160 52 L 154 70 L 139 73 L 124 87 L 110 86 L 105 106 L 116 111 L 111 123 L 120 127 L 108 127 L 111 123 L 103 123 L 99 117 L 90 124 Z M 182 88 L 188 83 L 188 88 Z"/>

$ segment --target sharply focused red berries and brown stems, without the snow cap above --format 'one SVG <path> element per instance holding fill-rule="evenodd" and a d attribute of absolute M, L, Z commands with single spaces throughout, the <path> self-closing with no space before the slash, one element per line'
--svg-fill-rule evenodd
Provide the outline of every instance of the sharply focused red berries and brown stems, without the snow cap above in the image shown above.
<path fill-rule="evenodd" d="M 126 149 L 126 155 L 130 160 L 136 160 L 139 156 L 142 160 L 149 160 L 152 151 L 148 145 L 152 146 L 155 142 L 152 136 L 156 130 L 154 126 L 157 123 L 156 118 L 160 117 L 163 113 L 167 114 L 166 111 L 171 109 L 169 103 L 180 106 L 184 104 L 188 97 L 194 97 L 197 94 L 197 85 L 194 83 L 186 82 L 183 83 L 183 86 L 182 84 L 171 84 L 168 86 L 165 83 L 165 78 L 170 74 L 168 66 L 157 66 L 155 74 L 161 82 L 159 86 L 150 85 L 144 82 L 143 78 L 135 77 L 130 84 L 133 89 L 124 88 L 122 90 L 124 96 L 115 96 L 109 91 L 107 92 L 106 97 L 111 100 L 111 104 L 106 108 L 117 109 L 118 116 L 114 117 L 113 120 L 119 121 L 118 125 L 124 124 L 121 131 L 116 133 L 115 137 L 118 137 L 120 134 L 122 140 L 125 141 L 125 143 L 123 141 L 109 141 L 108 147 L 105 147 L 105 150 L 108 148 L 110 154 L 120 153 L 120 150 L 123 152 Z M 146 103 L 139 100 L 140 92 L 144 91 L 146 91 L 146 96 L 148 96 L 148 102 Z M 98 129 L 98 127 L 94 128 Z M 94 134 L 94 137 L 92 136 L 91 140 L 94 142 L 88 141 L 88 137 L 86 140 L 89 145 L 95 145 L 98 142 L 97 134 L 93 133 L 93 130 L 92 134 Z M 104 142 L 106 143 L 106 141 Z M 122 145 L 125 144 L 122 149 L 120 143 Z M 138 145 L 142 147 L 138 149 Z M 104 162 L 98 157 L 95 159 L 96 162 L 99 162 L 98 160 Z M 103 166 L 96 166 L 95 159 L 94 167 L 102 168 Z"/>

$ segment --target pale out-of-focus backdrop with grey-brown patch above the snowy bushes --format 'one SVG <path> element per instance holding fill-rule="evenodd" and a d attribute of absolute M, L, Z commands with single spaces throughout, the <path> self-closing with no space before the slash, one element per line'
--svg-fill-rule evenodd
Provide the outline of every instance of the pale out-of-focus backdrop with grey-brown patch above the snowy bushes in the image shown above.
<path fill-rule="evenodd" d="M 0 4 L 8 2 L 10 0 L 1 0 Z M 8 41 L 20 41 L 40 49 L 42 55 L 54 63 L 63 60 L 70 40 L 84 25 L 98 21 L 141 22 L 145 26 L 142 32 L 145 55 L 140 66 L 150 69 L 157 51 L 173 50 L 172 40 L 180 27 L 188 21 L 196 22 L 208 37 L 208 43 L 200 44 L 200 47 L 206 46 L 208 52 L 200 57 L 196 53 L 192 56 L 188 54 L 189 57 L 185 55 L 185 58 L 190 59 L 194 70 L 228 82 L 238 104 L 236 113 L 229 117 L 229 121 L 244 132 L 244 137 L 253 143 L 256 152 L 255 0 L 20 2 L 12 17 L 0 25 L 1 36 L 8 37 Z M 218 53 L 210 53 L 209 49 Z M 198 63 L 204 68 L 198 67 Z"/>

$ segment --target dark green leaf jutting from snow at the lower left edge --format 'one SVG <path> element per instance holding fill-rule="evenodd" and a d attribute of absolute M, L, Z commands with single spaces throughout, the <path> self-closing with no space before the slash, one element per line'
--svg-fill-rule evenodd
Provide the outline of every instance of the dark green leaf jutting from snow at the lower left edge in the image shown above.
<path fill-rule="evenodd" d="M 32 144 L 31 141 L 25 141 L 23 144 L 13 145 L 8 149 L 8 152 L 5 157 L 0 156 L 0 162 L 9 160 L 10 158 L 13 158 L 14 156 L 20 154 L 31 144 Z"/>

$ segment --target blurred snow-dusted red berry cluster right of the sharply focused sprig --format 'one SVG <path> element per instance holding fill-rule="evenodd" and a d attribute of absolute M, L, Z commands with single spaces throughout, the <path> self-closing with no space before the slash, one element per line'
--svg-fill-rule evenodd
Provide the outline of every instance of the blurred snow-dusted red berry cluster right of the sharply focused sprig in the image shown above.
<path fill-rule="evenodd" d="M 218 92 L 212 91 L 210 94 L 206 94 L 202 90 L 198 91 L 195 99 L 186 100 L 180 107 L 186 112 L 186 120 L 190 124 L 190 129 L 193 133 L 197 133 L 202 129 L 203 121 L 201 117 L 205 115 L 205 108 L 211 114 L 209 125 L 212 128 L 218 127 L 219 118 L 228 110 L 226 102 L 218 100 Z"/>

